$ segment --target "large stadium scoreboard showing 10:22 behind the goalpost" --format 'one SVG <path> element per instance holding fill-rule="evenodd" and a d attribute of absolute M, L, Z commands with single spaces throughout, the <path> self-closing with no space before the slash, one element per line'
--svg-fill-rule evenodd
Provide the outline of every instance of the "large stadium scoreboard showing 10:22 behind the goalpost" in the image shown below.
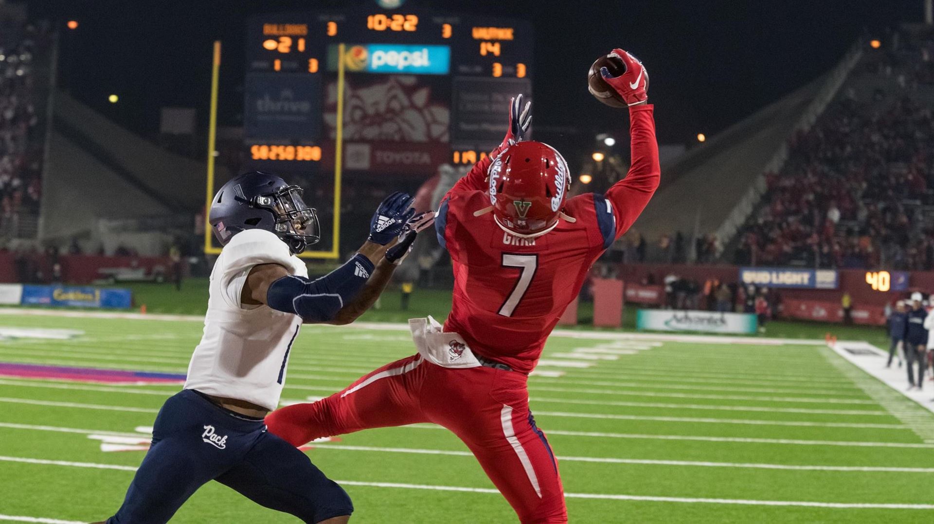
<path fill-rule="evenodd" d="M 248 164 L 333 167 L 338 65 L 345 171 L 427 177 L 441 163 L 474 163 L 502 140 L 509 98 L 531 96 L 531 50 L 526 21 L 404 4 L 253 17 Z"/>

